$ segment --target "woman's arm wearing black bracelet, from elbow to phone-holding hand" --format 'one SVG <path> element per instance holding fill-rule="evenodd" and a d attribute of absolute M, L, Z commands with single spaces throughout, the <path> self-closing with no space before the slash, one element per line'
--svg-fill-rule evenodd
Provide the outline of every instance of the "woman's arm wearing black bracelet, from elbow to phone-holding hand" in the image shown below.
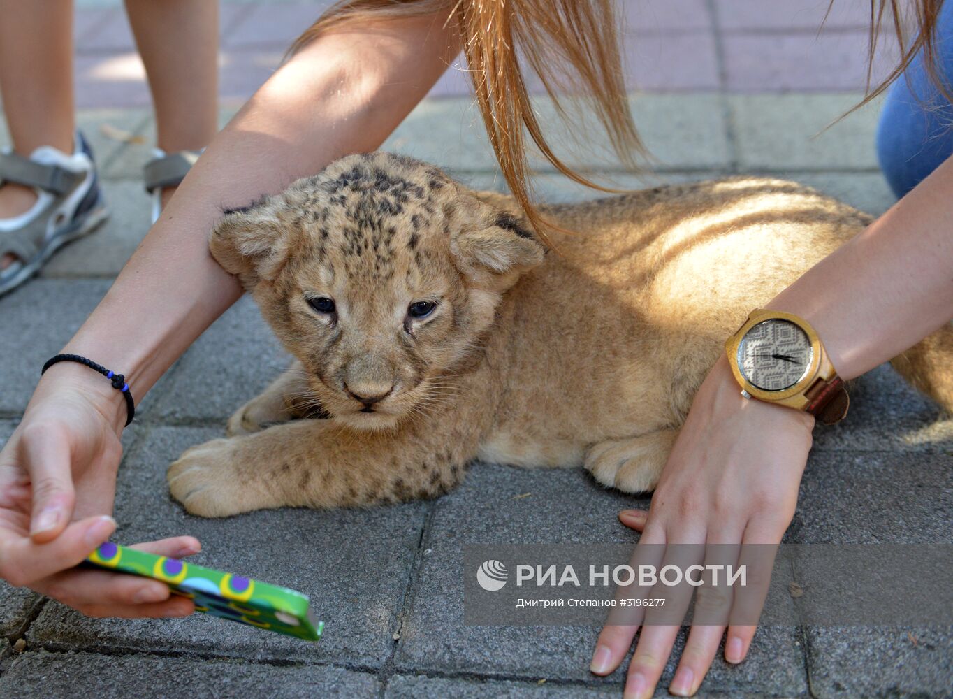
<path fill-rule="evenodd" d="M 340 155 L 374 150 L 456 55 L 445 20 L 342 26 L 298 51 L 215 137 L 64 351 L 122 372 L 141 400 L 241 294 L 208 251 L 222 208 L 280 192 Z M 188 612 L 165 586 L 60 572 L 112 532 L 111 521 L 94 516 L 112 511 L 124 422 L 119 393 L 89 369 L 63 362 L 44 375 L 0 452 L 0 577 L 92 614 Z M 158 549 L 185 555 L 197 545 L 180 537 Z M 138 605 L 146 599 L 136 593 L 151 606 Z"/>

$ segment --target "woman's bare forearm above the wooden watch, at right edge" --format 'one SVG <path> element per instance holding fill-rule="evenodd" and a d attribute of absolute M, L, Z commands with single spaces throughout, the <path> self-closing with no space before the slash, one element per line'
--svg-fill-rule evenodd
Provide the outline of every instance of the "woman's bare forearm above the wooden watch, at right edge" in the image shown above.
<path fill-rule="evenodd" d="M 853 379 L 953 318 L 953 158 L 768 308 L 811 322 Z"/>

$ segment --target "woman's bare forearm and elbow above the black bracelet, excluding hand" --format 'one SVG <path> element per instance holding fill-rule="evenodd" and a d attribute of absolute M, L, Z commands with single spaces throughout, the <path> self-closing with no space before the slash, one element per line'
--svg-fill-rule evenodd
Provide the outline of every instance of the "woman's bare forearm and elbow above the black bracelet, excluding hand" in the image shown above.
<path fill-rule="evenodd" d="M 65 351 L 124 372 L 141 398 L 241 294 L 208 251 L 222 209 L 379 146 L 458 51 L 444 20 L 363 23 L 299 51 L 214 138 Z"/>

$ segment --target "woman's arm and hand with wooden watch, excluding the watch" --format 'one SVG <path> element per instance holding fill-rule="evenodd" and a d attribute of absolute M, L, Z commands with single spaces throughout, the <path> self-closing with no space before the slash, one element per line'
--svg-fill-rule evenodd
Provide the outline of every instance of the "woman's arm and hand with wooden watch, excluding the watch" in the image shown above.
<path fill-rule="evenodd" d="M 818 330 L 841 377 L 851 379 L 900 354 L 953 318 L 953 158 L 886 214 L 821 260 L 767 308 L 795 313 Z M 951 367 L 953 371 L 953 367 Z M 778 544 L 797 505 L 814 418 L 746 401 L 728 362 L 701 385 L 662 471 L 639 544 Z M 638 627 L 607 626 L 592 669 L 607 674 Z M 756 627 L 728 629 L 724 656 L 740 663 Z M 669 689 L 695 693 L 724 627 L 693 627 Z M 626 697 L 652 695 L 678 627 L 643 627 Z"/>

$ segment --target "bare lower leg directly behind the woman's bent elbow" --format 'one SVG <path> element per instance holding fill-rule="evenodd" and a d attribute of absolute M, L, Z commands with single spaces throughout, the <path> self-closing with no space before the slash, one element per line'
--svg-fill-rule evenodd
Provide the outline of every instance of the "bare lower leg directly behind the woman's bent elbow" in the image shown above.
<path fill-rule="evenodd" d="M 158 147 L 205 148 L 218 119 L 218 1 L 126 0 L 126 11 L 149 75 Z"/>

